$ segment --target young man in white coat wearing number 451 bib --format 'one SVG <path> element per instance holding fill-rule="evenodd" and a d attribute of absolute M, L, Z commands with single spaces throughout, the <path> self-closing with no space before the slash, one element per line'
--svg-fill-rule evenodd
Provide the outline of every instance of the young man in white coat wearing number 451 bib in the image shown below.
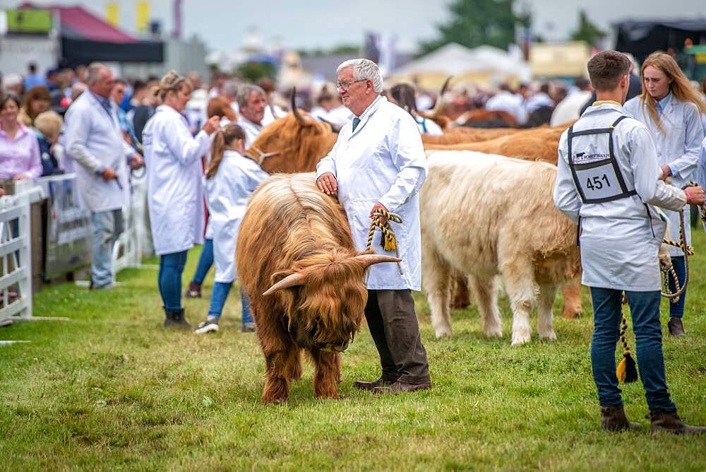
<path fill-rule="evenodd" d="M 624 291 L 652 431 L 705 432 L 682 423 L 667 391 L 657 262 L 666 223 L 653 207 L 678 210 L 684 203 L 702 203 L 704 191 L 685 191 L 660 180 L 650 131 L 623 110 L 629 71 L 630 61 L 616 51 L 599 52 L 588 62 L 598 101 L 561 136 L 554 204 L 579 225 L 582 283 L 590 287 L 593 300 L 591 362 L 601 427 L 619 431 L 639 426 L 626 418 L 616 377 Z"/>

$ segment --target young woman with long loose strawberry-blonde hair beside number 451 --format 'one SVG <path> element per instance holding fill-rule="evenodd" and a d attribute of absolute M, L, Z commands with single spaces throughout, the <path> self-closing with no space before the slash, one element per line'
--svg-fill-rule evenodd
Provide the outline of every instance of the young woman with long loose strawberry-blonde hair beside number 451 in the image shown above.
<path fill-rule="evenodd" d="M 683 187 L 694 178 L 699 160 L 704 129 L 700 113 L 706 113 L 706 102 L 689 83 L 674 58 L 664 52 L 650 54 L 640 70 L 642 93 L 625 104 L 625 110 L 647 125 L 657 146 L 657 158 L 662 167 L 662 179 L 669 177 L 674 187 Z M 679 214 L 666 211 L 669 217 L 670 240 L 679 239 Z M 687 244 L 691 244 L 688 208 L 684 210 Z M 684 254 L 670 247 L 669 254 L 680 285 L 686 278 Z M 674 290 L 674 283 L 671 283 Z M 682 317 L 686 292 L 678 303 L 669 304 L 669 334 L 683 336 Z"/>

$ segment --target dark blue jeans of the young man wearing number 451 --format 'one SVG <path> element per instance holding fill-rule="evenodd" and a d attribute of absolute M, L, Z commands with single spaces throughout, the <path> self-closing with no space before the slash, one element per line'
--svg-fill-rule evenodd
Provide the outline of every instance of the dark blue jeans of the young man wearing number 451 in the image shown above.
<path fill-rule="evenodd" d="M 675 411 L 669 399 L 662 354 L 662 325 L 659 324 L 659 291 L 626 291 L 633 331 L 637 342 L 638 367 L 650 410 Z M 601 406 L 621 406 L 616 377 L 616 343 L 620 333 L 621 290 L 591 287 L 594 329 L 591 341 L 593 379 Z"/>

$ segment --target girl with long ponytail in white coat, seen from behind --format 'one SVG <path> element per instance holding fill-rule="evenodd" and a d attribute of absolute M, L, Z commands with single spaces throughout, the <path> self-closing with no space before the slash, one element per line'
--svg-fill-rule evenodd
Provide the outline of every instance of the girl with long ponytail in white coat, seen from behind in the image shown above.
<path fill-rule="evenodd" d="M 216 131 L 211 144 L 211 160 L 203 176 L 203 185 L 213 231 L 216 273 L 208 316 L 198 325 L 194 331 L 196 334 L 219 329 L 223 305 L 237 278 L 234 255 L 240 222 L 250 195 L 269 177 L 254 160 L 243 155 L 245 140 L 245 131 L 238 124 L 231 123 Z M 241 303 L 242 331 L 254 331 L 249 303 L 242 292 Z"/>

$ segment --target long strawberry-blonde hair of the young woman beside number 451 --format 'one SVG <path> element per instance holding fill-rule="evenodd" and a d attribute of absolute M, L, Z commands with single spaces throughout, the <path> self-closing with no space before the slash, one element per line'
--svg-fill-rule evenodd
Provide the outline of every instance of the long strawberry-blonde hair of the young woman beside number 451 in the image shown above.
<path fill-rule="evenodd" d="M 666 52 L 653 52 L 647 59 L 642 63 L 642 69 L 640 69 L 640 83 L 642 85 L 642 93 L 640 93 L 640 105 L 644 112 L 645 107 L 647 107 L 647 112 L 650 114 L 652 121 L 657 124 L 657 128 L 662 133 L 666 133 L 662 120 L 659 119 L 659 114 L 657 114 L 657 100 L 647 92 L 645 88 L 645 69 L 648 66 L 654 67 L 654 69 L 659 69 L 662 71 L 666 78 L 671 79 L 669 84 L 669 91 L 674 95 L 675 98 L 681 102 L 692 102 L 696 105 L 702 114 L 706 113 L 706 102 L 704 102 L 698 91 L 694 90 L 686 78 L 684 73 L 679 69 L 678 64 L 673 57 Z"/>

